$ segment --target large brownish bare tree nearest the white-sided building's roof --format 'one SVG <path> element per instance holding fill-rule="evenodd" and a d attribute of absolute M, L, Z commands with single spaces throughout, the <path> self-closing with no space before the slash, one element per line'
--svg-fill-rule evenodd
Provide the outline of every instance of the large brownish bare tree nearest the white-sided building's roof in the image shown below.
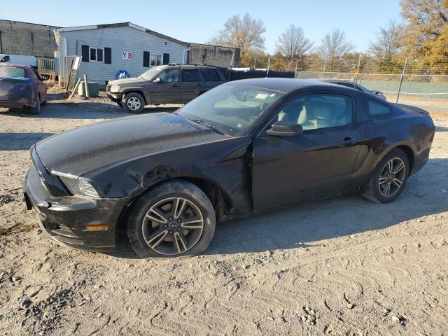
<path fill-rule="evenodd" d="M 266 31 L 262 20 L 251 18 L 251 15 L 233 15 L 224 23 L 224 28 L 218 31 L 207 42 L 213 45 L 226 45 L 240 48 L 244 55 L 250 50 L 262 50 L 265 48 L 265 38 L 262 36 Z"/>

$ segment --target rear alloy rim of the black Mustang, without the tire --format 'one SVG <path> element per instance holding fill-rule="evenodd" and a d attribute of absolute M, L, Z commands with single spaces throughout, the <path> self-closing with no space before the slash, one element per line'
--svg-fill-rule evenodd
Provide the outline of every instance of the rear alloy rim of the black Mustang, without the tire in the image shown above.
<path fill-rule="evenodd" d="M 405 162 L 400 158 L 391 158 L 386 162 L 379 175 L 379 192 L 384 197 L 392 197 L 401 189 L 405 177 Z"/>

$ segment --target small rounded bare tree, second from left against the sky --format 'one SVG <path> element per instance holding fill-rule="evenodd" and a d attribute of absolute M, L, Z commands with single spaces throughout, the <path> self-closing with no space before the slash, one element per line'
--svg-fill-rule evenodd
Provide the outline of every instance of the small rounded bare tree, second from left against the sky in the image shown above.
<path fill-rule="evenodd" d="M 302 27 L 290 25 L 277 38 L 275 51 L 290 61 L 302 58 L 313 43 L 305 37 Z"/>

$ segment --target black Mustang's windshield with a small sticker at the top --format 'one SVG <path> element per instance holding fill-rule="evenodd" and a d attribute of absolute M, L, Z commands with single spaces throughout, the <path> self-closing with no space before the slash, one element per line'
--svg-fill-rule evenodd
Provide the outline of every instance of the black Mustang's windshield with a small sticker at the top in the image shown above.
<path fill-rule="evenodd" d="M 238 83 L 219 85 L 183 106 L 178 114 L 231 135 L 244 134 L 282 92 Z"/>

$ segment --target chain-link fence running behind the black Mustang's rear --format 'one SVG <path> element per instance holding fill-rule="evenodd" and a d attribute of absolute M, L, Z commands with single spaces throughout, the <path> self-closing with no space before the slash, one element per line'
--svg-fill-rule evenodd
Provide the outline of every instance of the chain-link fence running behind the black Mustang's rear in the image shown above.
<path fill-rule="evenodd" d="M 337 62 L 318 60 L 302 64 L 295 78 L 338 78 L 353 80 L 369 90 L 381 91 L 388 102 L 418 106 L 429 112 L 448 113 L 448 75 L 418 66 L 417 61 L 400 64 L 384 60 L 363 61 L 362 58 L 339 59 Z M 440 65 L 440 64 L 439 64 Z M 341 70 L 339 70 L 341 69 Z M 367 71 L 394 70 L 395 73 Z M 433 73 L 434 72 L 434 73 Z"/>

